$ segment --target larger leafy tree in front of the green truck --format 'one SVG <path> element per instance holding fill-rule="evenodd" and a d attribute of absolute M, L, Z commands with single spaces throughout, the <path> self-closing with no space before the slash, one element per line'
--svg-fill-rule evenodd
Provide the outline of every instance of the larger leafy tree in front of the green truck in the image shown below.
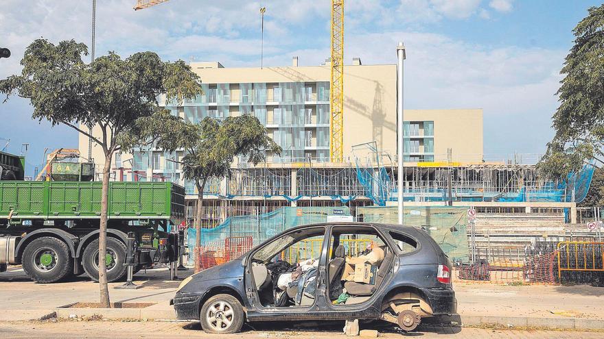
<path fill-rule="evenodd" d="M 32 118 L 67 125 L 99 145 L 104 155 L 99 236 L 99 282 L 102 307 L 110 307 L 106 277 L 106 231 L 109 171 L 116 151 L 143 145 L 143 122 L 165 116 L 157 97 L 193 98 L 202 92 L 198 76 L 185 62 L 163 62 L 156 53 L 135 53 L 122 60 L 108 53 L 90 64 L 88 48 L 75 40 L 54 45 L 45 39 L 27 47 L 21 75 L 0 80 L 0 92 L 30 99 Z M 100 130 L 97 136 L 89 133 Z"/>

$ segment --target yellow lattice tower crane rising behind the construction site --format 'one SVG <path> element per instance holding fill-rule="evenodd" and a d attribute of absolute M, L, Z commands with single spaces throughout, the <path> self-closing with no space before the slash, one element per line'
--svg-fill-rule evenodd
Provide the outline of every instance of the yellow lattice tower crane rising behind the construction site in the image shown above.
<path fill-rule="evenodd" d="M 137 0 L 135 10 L 143 10 L 168 0 Z M 344 159 L 344 0 L 332 0 L 332 62 L 329 106 L 329 159 Z"/>

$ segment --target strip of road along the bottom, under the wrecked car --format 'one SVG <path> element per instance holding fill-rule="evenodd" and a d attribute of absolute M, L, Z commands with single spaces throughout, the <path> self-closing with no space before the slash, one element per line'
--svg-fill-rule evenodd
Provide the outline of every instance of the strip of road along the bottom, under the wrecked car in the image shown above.
<path fill-rule="evenodd" d="M 113 321 L 59 321 L 0 323 L 0 336 L 4 338 L 297 338 L 334 339 L 349 338 L 342 334 L 341 324 L 323 324 L 308 328 L 290 329 L 284 323 L 257 324 L 243 333 L 216 336 L 206 334 L 196 323 L 167 322 L 113 322 Z M 312 327 L 311 327 L 312 326 Z M 382 329 L 380 338 L 603 338 L 602 332 L 542 331 L 513 329 L 419 327 L 419 331 L 404 334 L 394 329 Z"/>

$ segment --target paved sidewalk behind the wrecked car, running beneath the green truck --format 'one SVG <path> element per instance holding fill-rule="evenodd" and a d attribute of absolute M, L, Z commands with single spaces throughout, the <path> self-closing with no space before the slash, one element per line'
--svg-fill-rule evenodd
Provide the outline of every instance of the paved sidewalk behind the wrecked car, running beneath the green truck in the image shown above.
<path fill-rule="evenodd" d="M 191 274 L 178 272 L 180 277 Z M 167 268 L 141 271 L 135 275 L 138 290 L 115 290 L 110 284 L 112 302 L 155 303 L 143 309 L 112 309 L 104 316 L 113 318 L 174 319 L 169 302 L 180 281 L 167 281 Z M 505 286 L 486 283 L 454 284 L 458 313 L 465 325 L 500 323 L 526 327 L 548 327 L 547 321 L 531 323 L 531 319 L 550 319 L 565 328 L 604 327 L 604 288 L 592 286 Z M 98 284 L 85 277 L 60 284 L 35 284 L 21 269 L 0 274 L 0 298 L 4 310 L 0 321 L 27 320 L 56 312 L 61 306 L 76 302 L 97 302 Z M 19 312 L 17 312 L 19 311 Z M 88 315 L 94 310 L 60 310 L 58 316 Z M 91 315 L 91 314 L 89 314 Z M 527 319 L 529 319 L 527 321 Z M 580 324 L 581 327 L 579 327 Z M 539 327 L 539 326 L 537 326 Z"/>

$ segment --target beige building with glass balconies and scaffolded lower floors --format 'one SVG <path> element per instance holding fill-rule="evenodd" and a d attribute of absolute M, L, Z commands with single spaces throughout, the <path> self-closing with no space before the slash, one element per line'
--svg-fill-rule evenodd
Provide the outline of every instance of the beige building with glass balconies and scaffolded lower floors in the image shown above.
<path fill-rule="evenodd" d="M 341 206 L 351 213 L 368 205 L 389 205 L 397 197 L 396 67 L 364 65 L 354 58 L 345 70 L 342 162 L 330 157 L 330 65 L 227 68 L 219 62 L 191 62 L 203 94 L 183 103 L 161 104 L 185 121 L 252 114 L 283 149 L 266 163 L 242 159 L 232 175 L 210 181 L 204 192 L 207 227 L 227 216 L 262 214 L 284 206 Z M 463 205 L 478 211 L 553 212 L 573 220 L 574 205 L 587 192 L 590 175 L 544 181 L 535 166 L 516 160 L 491 161 L 483 153 L 482 110 L 404 112 L 404 199 L 408 205 Z M 86 154 L 89 138 L 80 135 Z M 194 217 L 196 189 L 178 167 L 182 151 L 137 149 L 117 153 L 112 179 L 174 181 L 187 192 Z M 97 164 L 103 156 L 93 145 Z M 97 169 L 102 166 L 97 166 Z"/>

